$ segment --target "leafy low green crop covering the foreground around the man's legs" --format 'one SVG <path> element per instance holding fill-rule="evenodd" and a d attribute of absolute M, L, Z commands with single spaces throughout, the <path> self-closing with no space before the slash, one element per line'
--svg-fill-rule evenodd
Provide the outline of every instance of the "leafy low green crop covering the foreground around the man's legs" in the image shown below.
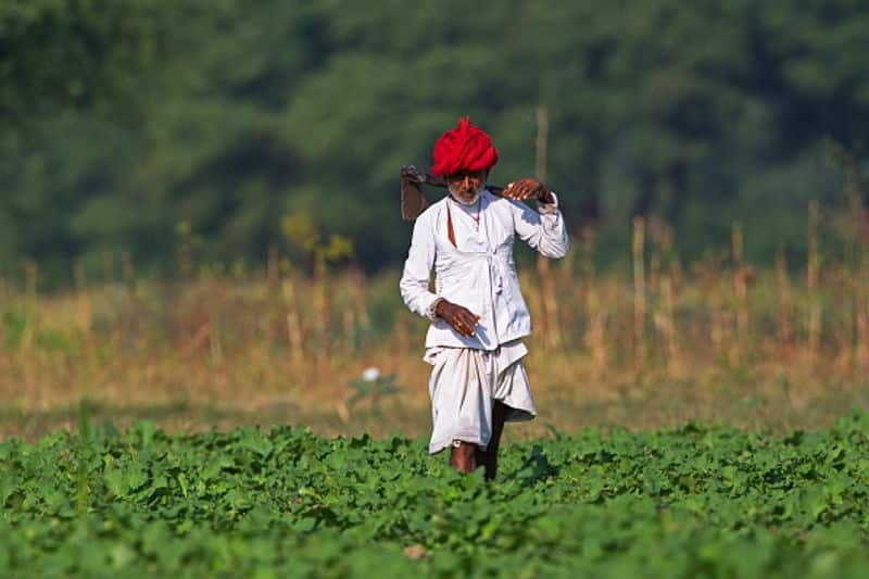
<path fill-rule="evenodd" d="M 0 443 L 0 575 L 858 577 L 869 414 L 783 437 L 513 443 L 494 483 L 425 440 L 151 423 Z"/>

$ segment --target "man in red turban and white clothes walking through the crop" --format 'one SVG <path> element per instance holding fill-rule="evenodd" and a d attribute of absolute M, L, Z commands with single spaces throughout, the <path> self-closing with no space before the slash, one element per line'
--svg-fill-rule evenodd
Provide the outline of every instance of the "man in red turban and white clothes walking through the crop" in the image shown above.
<path fill-rule="evenodd" d="M 424 356 L 432 366 L 429 452 L 449 448 L 455 468 L 483 466 L 491 480 L 504 423 L 537 414 L 522 365 L 531 320 L 513 242 L 518 236 L 546 257 L 563 257 L 567 232 L 558 200 L 542 182 L 519 179 L 503 198 L 486 189 L 498 150 L 469 118 L 441 135 L 431 156 L 431 173 L 450 194 L 416 219 L 400 282 L 407 307 L 431 320 Z M 537 211 L 520 201 L 534 201 Z"/>

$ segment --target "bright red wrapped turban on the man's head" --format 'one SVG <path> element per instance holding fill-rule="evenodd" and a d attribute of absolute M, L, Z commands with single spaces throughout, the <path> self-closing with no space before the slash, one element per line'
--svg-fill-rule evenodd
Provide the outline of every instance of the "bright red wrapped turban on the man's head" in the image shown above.
<path fill-rule="evenodd" d="M 498 149 L 492 146 L 491 137 L 465 116 L 437 140 L 431 163 L 431 173 L 439 177 L 465 171 L 488 171 L 498 163 Z"/>

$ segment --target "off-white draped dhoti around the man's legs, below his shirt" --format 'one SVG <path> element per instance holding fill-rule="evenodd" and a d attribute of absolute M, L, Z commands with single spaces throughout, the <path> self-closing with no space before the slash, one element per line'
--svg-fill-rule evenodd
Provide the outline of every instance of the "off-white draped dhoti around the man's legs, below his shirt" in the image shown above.
<path fill-rule="evenodd" d="M 531 420 L 537 415 L 531 387 L 522 365 L 528 353 L 521 340 L 493 351 L 434 347 L 424 360 L 431 364 L 432 431 L 429 452 L 457 441 L 482 449 L 492 437 L 492 405 L 507 406 L 506 421 Z"/>

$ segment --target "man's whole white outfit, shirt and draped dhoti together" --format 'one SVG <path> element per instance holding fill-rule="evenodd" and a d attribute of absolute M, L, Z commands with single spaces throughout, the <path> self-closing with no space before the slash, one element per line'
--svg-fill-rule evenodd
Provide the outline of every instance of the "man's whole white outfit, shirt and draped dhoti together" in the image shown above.
<path fill-rule="evenodd" d="M 448 237 L 448 210 L 457 247 Z M 478 217 L 475 221 L 449 196 L 428 207 L 414 226 L 400 282 L 407 306 L 431 320 L 424 356 L 432 365 L 431 453 L 456 441 L 486 448 L 495 400 L 511 408 L 507 420 L 530 420 L 537 414 L 521 362 L 527 353 L 521 338 L 531 332 L 531 320 L 519 290 L 513 242 L 518 235 L 545 256 L 564 256 L 568 238 L 557 198 L 533 211 L 483 191 Z M 434 292 L 428 287 L 432 269 Z M 433 316 L 439 298 L 480 316 L 474 337 L 461 336 Z"/>

